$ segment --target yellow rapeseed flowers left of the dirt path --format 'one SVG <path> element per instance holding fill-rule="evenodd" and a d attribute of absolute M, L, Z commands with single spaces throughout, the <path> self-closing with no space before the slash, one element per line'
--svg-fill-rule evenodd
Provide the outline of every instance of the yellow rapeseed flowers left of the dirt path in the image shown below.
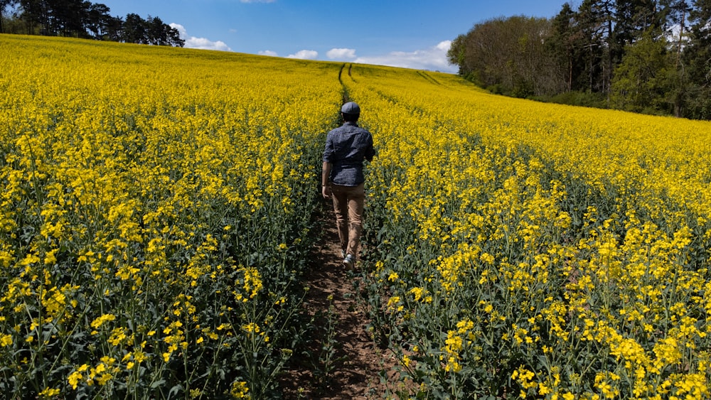
<path fill-rule="evenodd" d="M 339 67 L 2 36 L 0 397 L 272 396 Z"/>

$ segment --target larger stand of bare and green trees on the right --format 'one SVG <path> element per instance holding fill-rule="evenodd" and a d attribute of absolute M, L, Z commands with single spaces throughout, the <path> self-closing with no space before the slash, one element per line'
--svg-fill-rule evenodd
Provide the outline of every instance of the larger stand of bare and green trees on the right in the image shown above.
<path fill-rule="evenodd" d="M 711 0 L 583 0 L 476 23 L 447 54 L 514 97 L 711 119 Z"/>

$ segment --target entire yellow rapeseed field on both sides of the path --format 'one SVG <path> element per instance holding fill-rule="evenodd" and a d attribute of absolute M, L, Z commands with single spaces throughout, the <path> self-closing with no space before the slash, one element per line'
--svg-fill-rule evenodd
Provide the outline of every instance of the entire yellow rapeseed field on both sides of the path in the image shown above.
<path fill-rule="evenodd" d="M 0 35 L 0 397 L 281 396 L 343 99 L 401 399 L 711 396 L 711 123 Z"/>

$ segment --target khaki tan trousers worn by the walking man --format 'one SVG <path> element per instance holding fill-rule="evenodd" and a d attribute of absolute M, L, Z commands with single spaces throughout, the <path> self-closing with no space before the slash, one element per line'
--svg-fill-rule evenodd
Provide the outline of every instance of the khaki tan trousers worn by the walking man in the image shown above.
<path fill-rule="evenodd" d="M 336 212 L 336 228 L 341 249 L 353 257 L 358 255 L 360 232 L 363 231 L 363 204 L 365 185 L 341 186 L 331 184 L 333 211 Z"/>

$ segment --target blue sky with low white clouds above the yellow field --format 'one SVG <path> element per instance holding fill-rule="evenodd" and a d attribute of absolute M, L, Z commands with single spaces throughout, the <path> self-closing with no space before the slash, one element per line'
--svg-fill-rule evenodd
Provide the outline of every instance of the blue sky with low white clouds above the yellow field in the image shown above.
<path fill-rule="evenodd" d="M 451 40 L 475 23 L 552 17 L 565 0 L 98 0 L 158 16 L 186 48 L 456 72 Z M 570 1 L 576 4 L 576 1 Z"/>

